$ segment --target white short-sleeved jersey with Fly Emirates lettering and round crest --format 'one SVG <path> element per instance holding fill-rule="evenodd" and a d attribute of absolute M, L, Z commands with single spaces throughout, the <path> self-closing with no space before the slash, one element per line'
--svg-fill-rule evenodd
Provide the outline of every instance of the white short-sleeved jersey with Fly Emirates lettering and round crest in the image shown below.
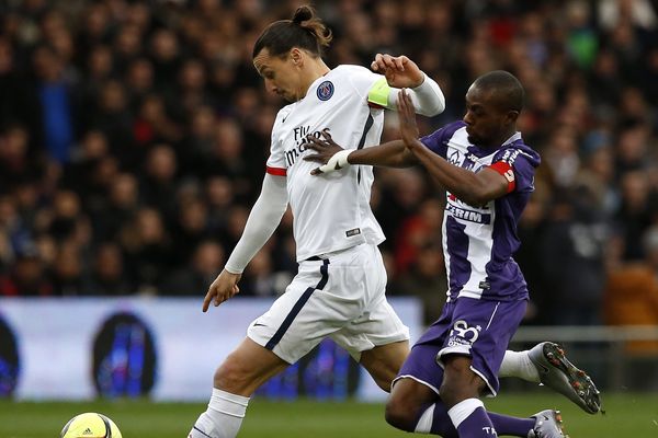
<path fill-rule="evenodd" d="M 354 165 L 318 176 L 317 163 L 303 157 L 307 135 L 328 130 L 345 149 L 379 143 L 384 111 L 368 106 L 371 87 L 381 74 L 364 67 L 339 66 L 318 78 L 306 96 L 281 108 L 272 128 L 268 173 L 287 177 L 297 261 L 385 238 L 370 208 L 373 168 Z"/>

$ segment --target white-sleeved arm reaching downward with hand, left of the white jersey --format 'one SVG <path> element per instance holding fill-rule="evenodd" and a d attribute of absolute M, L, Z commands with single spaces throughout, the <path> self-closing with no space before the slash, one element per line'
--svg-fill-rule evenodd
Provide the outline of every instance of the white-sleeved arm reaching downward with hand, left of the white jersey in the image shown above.
<path fill-rule="evenodd" d="M 285 176 L 265 174 L 261 194 L 251 208 L 242 237 L 203 300 L 204 312 L 211 302 L 217 307 L 240 291 L 238 281 L 242 270 L 276 230 L 286 207 Z"/>

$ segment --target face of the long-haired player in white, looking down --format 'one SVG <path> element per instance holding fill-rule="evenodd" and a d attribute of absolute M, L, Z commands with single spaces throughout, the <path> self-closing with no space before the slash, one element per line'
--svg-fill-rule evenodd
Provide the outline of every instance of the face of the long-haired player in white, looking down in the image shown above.
<path fill-rule="evenodd" d="M 304 97 L 299 87 L 299 69 L 287 54 L 284 57 L 270 56 L 266 48 L 253 58 L 253 67 L 265 80 L 265 89 L 279 94 L 288 102 L 297 102 Z"/>

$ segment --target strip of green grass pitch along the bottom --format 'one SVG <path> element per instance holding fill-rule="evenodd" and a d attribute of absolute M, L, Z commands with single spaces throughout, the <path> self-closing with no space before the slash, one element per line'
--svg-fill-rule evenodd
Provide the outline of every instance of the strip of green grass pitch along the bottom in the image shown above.
<path fill-rule="evenodd" d="M 658 396 L 606 394 L 606 415 L 582 413 L 553 394 L 524 393 L 486 401 L 504 414 L 530 415 L 560 407 L 565 429 L 572 438 L 658 437 Z M 113 418 L 124 438 L 185 438 L 204 404 L 107 401 L 93 403 L 0 402 L 0 438 L 57 438 L 64 424 L 81 412 L 101 412 Z M 386 425 L 384 406 L 355 402 L 266 402 L 253 400 L 240 438 L 393 438 L 408 437 Z"/>

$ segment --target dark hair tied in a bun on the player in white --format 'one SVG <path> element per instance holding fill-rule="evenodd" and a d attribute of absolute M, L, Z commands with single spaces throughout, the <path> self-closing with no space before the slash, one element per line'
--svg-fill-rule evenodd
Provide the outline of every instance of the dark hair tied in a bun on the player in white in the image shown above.
<path fill-rule="evenodd" d="M 309 51 L 315 57 L 331 42 L 331 31 L 308 4 L 300 5 L 292 20 L 280 20 L 270 24 L 253 45 L 252 58 L 264 48 L 271 56 L 287 54 L 293 47 Z"/>

